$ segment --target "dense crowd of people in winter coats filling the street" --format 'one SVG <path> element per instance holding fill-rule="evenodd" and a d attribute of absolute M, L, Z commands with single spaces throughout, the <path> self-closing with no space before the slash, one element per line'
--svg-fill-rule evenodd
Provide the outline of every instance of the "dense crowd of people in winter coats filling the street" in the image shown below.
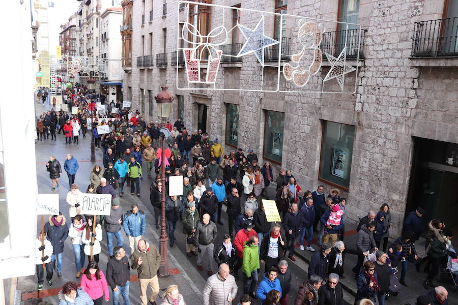
<path fill-rule="evenodd" d="M 203 289 L 205 305 L 232 303 L 238 291 L 235 278 L 240 276 L 243 280 L 241 305 L 248 305 L 253 299 L 265 305 L 288 304 L 292 290 L 288 264 L 296 261 L 296 242 L 301 251 L 312 252 L 308 277 L 297 288 L 296 305 L 344 304 L 339 281 L 345 278 L 346 254 L 358 257 L 352 269 L 358 287 L 355 304 L 383 305 L 390 293 L 399 291 L 392 288 L 396 286 L 399 272 L 399 283 L 408 286 L 406 271 L 409 262 L 414 261 L 418 261 L 417 270 L 423 262 L 427 263 L 424 285 L 432 289 L 427 296 L 419 297 L 418 304 L 447 304 L 448 292 L 437 286 L 436 281 L 439 267 L 454 253 L 450 243 L 453 232 L 440 220 L 431 221 L 426 239 L 427 256 L 418 260 L 415 241 L 421 234 L 425 213 L 421 207 L 406 217 L 404 233 L 392 243 L 388 241 L 391 224 L 388 204 L 383 204 L 377 212 L 370 210 L 360 219 L 356 245 L 350 249 L 344 243 L 349 206 L 337 188 L 329 190 L 327 196 L 323 185 L 313 192 L 303 191 L 291 170 L 280 170 L 275 177 L 274 199 L 282 221 L 270 222 L 262 198 L 269 197 L 267 187 L 274 181 L 273 171 L 269 162 L 259 165 L 252 149 L 246 155 L 242 148 L 224 154 L 218 139 L 210 141 L 201 130 L 188 134 L 181 119 L 172 126 L 169 122 L 147 124 L 138 111 L 132 113 L 127 109 L 116 114 L 109 111 L 111 117 L 97 113 L 95 101 L 101 101 L 103 95 L 96 95 L 78 84 L 67 89 L 65 96 L 69 107 L 70 104 L 78 106 L 78 114 L 69 117 L 63 110 L 43 113 L 37 120 L 37 136 L 40 141 L 43 137 L 47 139 L 44 126 L 48 125 L 51 140 L 55 139 L 55 130 L 59 130 L 59 134 L 62 130 L 68 139 L 66 143 L 78 144 L 79 130 L 83 130 L 85 137 L 89 124 L 95 145 L 99 147 L 102 143 L 104 152 L 103 164 L 96 164 L 90 173 L 85 173 L 90 182 L 85 192 L 110 194 L 112 200 L 109 216 L 97 219 L 81 214 L 82 192 L 74 183 L 79 165 L 67 154 L 63 167 L 69 179 L 66 201 L 70 220 L 62 213 L 50 216 L 44 232 L 38 235 L 36 254 L 38 290 L 43 289 L 44 271 L 47 284 L 52 287 L 53 270 L 62 277 L 64 241 L 71 238 L 75 277 L 80 279 L 81 287 L 74 282 L 66 283 L 59 295 L 60 304 L 102 304 L 110 299 L 109 288 L 113 304 L 119 304 L 120 295 L 124 304 L 129 304 L 130 269 L 138 273 L 141 304 L 156 304 L 160 286 L 159 251 L 147 241 L 145 212 L 137 204 L 123 212 L 119 197 L 124 196 L 126 183 L 130 186 L 130 195 L 140 197 L 141 182 L 148 181 L 144 177 L 151 178 L 155 173 L 150 203 L 154 208 L 154 225 L 159 229 L 163 181 L 156 153 L 159 138 L 164 136 L 161 128 L 169 133 L 165 139 L 169 146 L 165 162 L 165 217 L 170 247 L 176 242 L 175 229 L 181 222 L 187 256 L 197 256 L 197 269 L 203 271 L 205 267 L 207 271 L 208 280 Z M 116 104 L 112 106 L 120 108 Z M 99 136 L 97 126 L 100 125 L 108 125 L 110 132 Z M 46 170 L 51 190 L 59 188 L 62 167 L 54 156 L 49 158 Z M 168 195 L 170 176 L 183 176 L 182 196 Z M 221 218 L 224 204 L 227 226 Z M 312 245 L 314 230 L 318 232 L 317 245 Z M 217 240 L 218 231 L 224 233 L 222 240 Z M 129 240 L 129 258 L 123 248 L 124 234 Z M 109 254 L 105 272 L 99 267 L 104 238 Z M 86 257 L 88 264 L 85 264 Z M 260 274 L 262 264 L 264 272 Z M 218 267 L 215 274 L 214 265 Z M 152 288 L 149 296 L 148 287 Z M 177 285 L 167 288 L 162 304 L 185 304 Z"/>

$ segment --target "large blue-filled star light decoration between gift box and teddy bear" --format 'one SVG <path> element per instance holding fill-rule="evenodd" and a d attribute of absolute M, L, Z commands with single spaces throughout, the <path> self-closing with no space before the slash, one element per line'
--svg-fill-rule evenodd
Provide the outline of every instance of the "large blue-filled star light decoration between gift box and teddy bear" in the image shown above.
<path fill-rule="evenodd" d="M 264 16 L 257 22 L 254 29 L 238 24 L 246 42 L 240 49 L 237 57 L 253 52 L 257 60 L 264 66 L 264 48 L 278 43 L 275 39 L 264 35 Z"/>

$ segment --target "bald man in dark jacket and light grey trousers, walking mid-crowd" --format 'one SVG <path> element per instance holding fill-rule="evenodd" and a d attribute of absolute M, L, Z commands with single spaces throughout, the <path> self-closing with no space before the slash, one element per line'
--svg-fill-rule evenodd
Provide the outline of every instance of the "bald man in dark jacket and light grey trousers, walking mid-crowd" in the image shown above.
<path fill-rule="evenodd" d="M 215 223 L 210 221 L 210 215 L 204 214 L 202 222 L 197 225 L 195 230 L 194 247 L 199 249 L 197 255 L 197 269 L 199 269 L 199 271 L 203 269 L 202 258 L 207 255 L 207 273 L 209 276 L 213 275 L 213 248 L 217 236 L 218 229 Z"/>

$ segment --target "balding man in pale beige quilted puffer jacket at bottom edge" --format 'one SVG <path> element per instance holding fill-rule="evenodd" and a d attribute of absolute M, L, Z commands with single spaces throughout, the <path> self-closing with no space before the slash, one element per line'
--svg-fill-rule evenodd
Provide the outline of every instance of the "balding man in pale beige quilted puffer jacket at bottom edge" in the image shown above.
<path fill-rule="evenodd" d="M 223 263 L 219 265 L 218 273 L 207 279 L 202 292 L 204 305 L 224 305 L 234 300 L 237 295 L 237 283 L 229 272 L 229 266 Z"/>

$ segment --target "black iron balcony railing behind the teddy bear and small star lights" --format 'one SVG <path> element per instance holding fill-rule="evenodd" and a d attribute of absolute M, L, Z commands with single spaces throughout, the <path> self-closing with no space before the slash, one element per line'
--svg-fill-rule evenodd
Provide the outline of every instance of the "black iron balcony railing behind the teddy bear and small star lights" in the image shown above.
<path fill-rule="evenodd" d="M 361 37 L 361 40 L 360 40 Z M 325 32 L 321 41 L 321 51 L 337 57 L 347 46 L 347 58 L 364 58 L 363 46 L 366 31 L 364 29 L 344 29 L 342 31 Z"/>

